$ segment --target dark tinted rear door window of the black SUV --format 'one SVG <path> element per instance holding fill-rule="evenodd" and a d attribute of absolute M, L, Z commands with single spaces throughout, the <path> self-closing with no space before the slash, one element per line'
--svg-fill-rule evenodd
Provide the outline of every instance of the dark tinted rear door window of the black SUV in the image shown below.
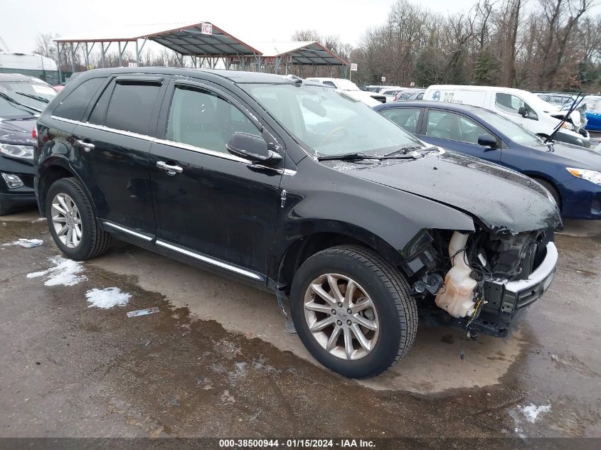
<path fill-rule="evenodd" d="M 151 83 L 117 82 L 110 98 L 105 126 L 125 132 L 149 134 L 160 90 L 160 85 Z"/>

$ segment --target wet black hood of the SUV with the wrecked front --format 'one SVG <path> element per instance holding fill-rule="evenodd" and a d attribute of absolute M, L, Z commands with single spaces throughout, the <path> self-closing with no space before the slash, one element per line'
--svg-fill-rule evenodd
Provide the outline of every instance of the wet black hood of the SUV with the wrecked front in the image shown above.
<path fill-rule="evenodd" d="M 331 162 L 351 176 L 462 210 L 494 231 L 518 233 L 561 224 L 554 200 L 536 181 L 454 151 L 376 164 Z"/>

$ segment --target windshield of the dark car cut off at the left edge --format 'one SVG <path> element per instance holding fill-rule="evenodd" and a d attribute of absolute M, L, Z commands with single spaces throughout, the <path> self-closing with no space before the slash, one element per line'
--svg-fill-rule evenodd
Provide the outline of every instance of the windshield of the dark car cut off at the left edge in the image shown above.
<path fill-rule="evenodd" d="M 0 81 L 0 92 L 11 97 L 23 105 L 28 105 L 36 109 L 44 109 L 48 102 L 55 97 L 57 92 L 54 88 L 42 80 L 23 80 L 23 81 Z M 16 109 L 7 100 L 0 99 L 0 114 L 4 115 L 23 115 L 26 114 L 21 109 Z M 9 104 L 8 106 L 6 104 Z"/>

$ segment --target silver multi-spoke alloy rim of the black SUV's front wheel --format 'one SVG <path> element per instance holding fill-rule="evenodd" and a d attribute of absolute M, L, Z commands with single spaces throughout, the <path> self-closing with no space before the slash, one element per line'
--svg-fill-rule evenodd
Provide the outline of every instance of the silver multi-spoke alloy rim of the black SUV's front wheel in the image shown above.
<path fill-rule="evenodd" d="M 337 358 L 364 358 L 378 342 L 376 306 L 365 289 L 344 275 L 323 274 L 309 284 L 304 318 L 319 345 Z"/>

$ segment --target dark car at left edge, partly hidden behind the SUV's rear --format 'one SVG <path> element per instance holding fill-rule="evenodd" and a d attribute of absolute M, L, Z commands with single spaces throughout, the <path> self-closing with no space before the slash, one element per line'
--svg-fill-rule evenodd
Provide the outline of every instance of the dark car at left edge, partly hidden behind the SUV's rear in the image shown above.
<path fill-rule="evenodd" d="M 42 80 L 0 73 L 0 215 L 36 205 L 31 132 L 55 95 Z"/>

